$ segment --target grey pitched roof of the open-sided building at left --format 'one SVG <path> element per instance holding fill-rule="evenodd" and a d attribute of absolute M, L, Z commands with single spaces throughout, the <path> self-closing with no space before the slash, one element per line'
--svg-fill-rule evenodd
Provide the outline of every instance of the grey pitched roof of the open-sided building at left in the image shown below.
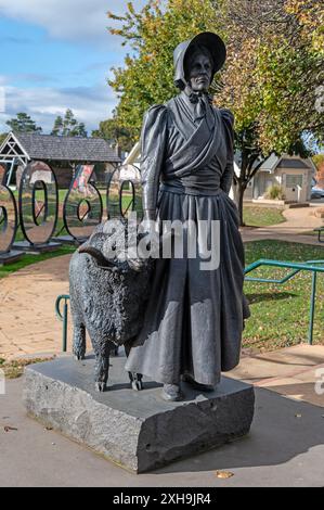
<path fill-rule="evenodd" d="M 15 132 L 11 136 L 30 160 L 121 163 L 116 151 L 102 138 L 55 137 L 34 132 Z"/>

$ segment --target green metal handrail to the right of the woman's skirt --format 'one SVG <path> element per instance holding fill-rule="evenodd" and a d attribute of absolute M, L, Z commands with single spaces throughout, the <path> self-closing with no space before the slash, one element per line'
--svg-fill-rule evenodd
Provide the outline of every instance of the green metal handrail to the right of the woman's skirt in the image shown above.
<path fill-rule="evenodd" d="M 321 264 L 321 267 L 317 267 L 316 264 Z M 288 263 L 283 260 L 272 260 L 270 258 L 260 258 L 259 260 L 254 262 L 245 268 L 244 273 L 257 269 L 261 266 L 272 266 L 280 268 L 294 269 L 288 275 L 283 278 L 254 278 L 245 277 L 245 281 L 258 281 L 263 283 L 285 283 L 286 281 L 294 278 L 300 271 L 310 271 L 312 272 L 312 290 L 310 297 L 310 319 L 309 319 L 309 330 L 308 330 L 308 343 L 312 345 L 313 343 L 313 330 L 314 330 L 314 314 L 315 314 L 315 297 L 316 297 L 316 278 L 317 272 L 324 272 L 324 260 L 307 260 L 306 263 Z"/>

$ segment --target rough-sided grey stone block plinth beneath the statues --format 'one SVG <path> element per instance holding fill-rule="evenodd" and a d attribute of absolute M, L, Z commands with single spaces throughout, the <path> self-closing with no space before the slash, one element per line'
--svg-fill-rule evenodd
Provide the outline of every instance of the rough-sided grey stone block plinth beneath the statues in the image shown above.
<path fill-rule="evenodd" d="M 160 384 L 129 387 L 125 357 L 111 359 L 109 390 L 96 393 L 94 358 L 63 357 L 25 370 L 24 401 L 30 416 L 137 473 L 209 450 L 247 434 L 252 386 L 222 378 L 215 392 L 183 383 L 185 400 L 167 403 Z"/>

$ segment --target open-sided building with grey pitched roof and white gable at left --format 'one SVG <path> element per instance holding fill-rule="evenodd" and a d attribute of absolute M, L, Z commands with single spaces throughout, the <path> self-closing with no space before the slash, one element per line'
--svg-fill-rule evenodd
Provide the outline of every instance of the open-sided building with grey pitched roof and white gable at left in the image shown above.
<path fill-rule="evenodd" d="M 106 182 L 121 163 L 117 150 L 102 138 L 10 132 L 0 145 L 0 183 L 17 186 L 23 169 L 31 161 L 50 165 L 60 188 L 69 187 L 79 164 L 94 165 L 94 179 Z"/>

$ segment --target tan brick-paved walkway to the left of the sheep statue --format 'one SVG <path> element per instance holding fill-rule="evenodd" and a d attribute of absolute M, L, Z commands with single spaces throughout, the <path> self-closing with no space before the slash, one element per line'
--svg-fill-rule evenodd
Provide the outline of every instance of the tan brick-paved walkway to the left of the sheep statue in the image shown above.
<path fill-rule="evenodd" d="M 59 294 L 68 294 L 69 258 L 51 258 L 0 280 L 0 357 L 61 352 L 54 304 Z"/>

